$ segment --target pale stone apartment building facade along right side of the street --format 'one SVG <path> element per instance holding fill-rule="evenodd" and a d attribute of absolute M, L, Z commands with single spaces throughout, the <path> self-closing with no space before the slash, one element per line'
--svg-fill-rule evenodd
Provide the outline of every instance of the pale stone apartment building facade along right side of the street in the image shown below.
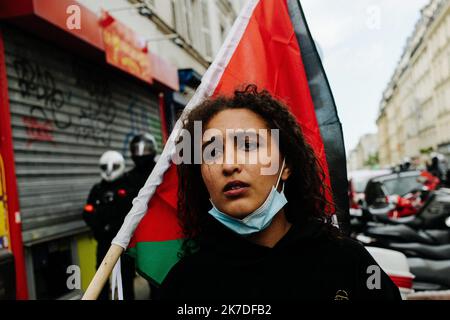
<path fill-rule="evenodd" d="M 377 119 L 383 166 L 405 157 L 423 163 L 431 152 L 450 160 L 450 1 L 422 9 Z"/>

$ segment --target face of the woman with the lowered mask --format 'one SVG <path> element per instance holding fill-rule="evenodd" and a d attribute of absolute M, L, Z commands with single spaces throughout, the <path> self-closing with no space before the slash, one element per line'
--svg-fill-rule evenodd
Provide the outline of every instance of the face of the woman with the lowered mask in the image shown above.
<path fill-rule="evenodd" d="M 233 136 L 242 130 L 253 130 L 258 134 L 260 129 L 268 130 L 268 133 L 244 135 L 244 139 Z M 278 142 L 263 118 L 244 108 L 226 109 L 210 119 L 204 128 L 202 150 L 217 140 L 223 144 L 223 153 L 214 152 L 213 157 L 206 157 L 204 153 L 201 164 L 203 181 L 220 211 L 242 219 L 261 206 L 277 183 L 283 161 Z M 267 155 L 268 159 L 262 159 L 261 154 Z M 274 161 L 278 165 L 272 166 Z M 267 170 L 269 167 L 275 168 L 271 174 L 262 174 L 264 168 Z M 285 166 L 281 180 L 286 180 L 289 174 L 290 170 Z"/>

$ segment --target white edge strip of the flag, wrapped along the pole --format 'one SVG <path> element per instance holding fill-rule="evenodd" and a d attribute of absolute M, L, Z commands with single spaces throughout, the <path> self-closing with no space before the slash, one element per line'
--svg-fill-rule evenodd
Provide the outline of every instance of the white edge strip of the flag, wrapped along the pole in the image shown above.
<path fill-rule="evenodd" d="M 249 0 L 245 7 L 239 14 L 236 22 L 233 24 L 224 44 L 220 48 L 214 62 L 206 71 L 202 78 L 200 86 L 197 88 L 194 96 L 189 101 L 188 105 L 184 109 L 180 119 L 178 119 L 175 127 L 170 134 L 169 139 L 164 147 L 164 150 L 156 163 L 155 168 L 148 177 L 145 185 L 139 191 L 137 197 L 133 200 L 133 207 L 128 212 L 122 227 L 113 239 L 112 243 L 126 249 L 130 243 L 131 237 L 134 234 L 139 222 L 147 212 L 147 204 L 153 197 L 156 188 L 161 184 L 164 173 L 169 169 L 172 156 L 175 154 L 175 141 L 182 129 L 182 120 L 185 119 L 187 114 L 199 105 L 205 98 L 210 97 L 217 87 L 222 75 L 230 62 L 242 36 L 247 29 L 250 18 L 253 15 L 253 11 L 258 5 L 260 0 Z"/>

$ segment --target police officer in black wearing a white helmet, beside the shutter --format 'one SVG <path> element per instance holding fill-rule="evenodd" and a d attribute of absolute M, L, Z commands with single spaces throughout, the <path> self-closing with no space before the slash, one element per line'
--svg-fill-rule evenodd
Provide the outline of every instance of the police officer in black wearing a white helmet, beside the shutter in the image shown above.
<path fill-rule="evenodd" d="M 100 158 L 102 180 L 95 184 L 83 210 L 83 219 L 92 229 L 97 241 L 97 268 L 105 257 L 112 239 L 132 206 L 132 194 L 124 179 L 125 160 L 117 151 L 106 151 Z M 134 259 L 128 254 L 121 258 L 124 299 L 134 299 Z M 108 285 L 100 293 L 99 300 L 108 299 Z"/>

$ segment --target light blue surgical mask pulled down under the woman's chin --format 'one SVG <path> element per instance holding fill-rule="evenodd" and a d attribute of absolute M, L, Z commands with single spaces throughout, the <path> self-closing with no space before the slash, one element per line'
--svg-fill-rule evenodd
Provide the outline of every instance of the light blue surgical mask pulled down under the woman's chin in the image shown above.
<path fill-rule="evenodd" d="M 272 190 L 270 191 L 264 203 L 245 218 L 238 219 L 221 212 L 219 209 L 217 209 L 214 203 L 212 203 L 211 199 L 210 201 L 213 207 L 208 211 L 209 214 L 232 231 L 241 235 L 248 235 L 264 230 L 270 225 L 273 217 L 275 217 L 275 215 L 287 203 L 287 199 L 284 195 L 284 183 L 281 192 L 278 192 L 277 190 L 281 174 L 283 173 L 283 169 L 284 160 L 283 165 L 281 166 L 280 174 L 278 175 L 277 184 L 275 186 L 272 186 Z"/>

